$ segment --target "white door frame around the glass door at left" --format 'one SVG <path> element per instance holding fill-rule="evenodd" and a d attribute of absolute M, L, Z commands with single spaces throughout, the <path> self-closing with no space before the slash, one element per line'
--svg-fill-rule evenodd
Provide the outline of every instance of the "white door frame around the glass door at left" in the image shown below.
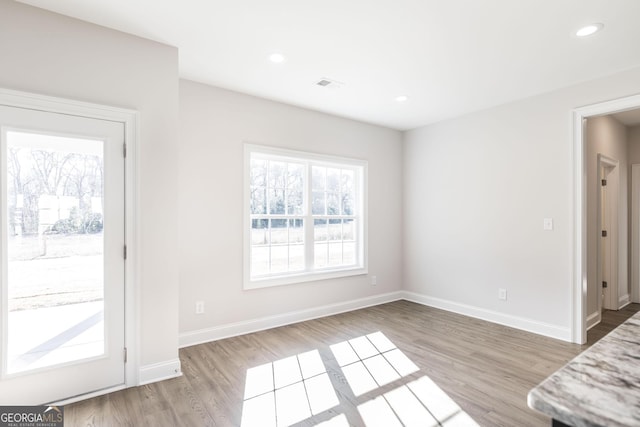
<path fill-rule="evenodd" d="M 0 88 L 0 105 L 9 107 L 27 108 L 59 114 L 88 117 L 92 119 L 108 120 L 124 124 L 125 130 L 125 295 L 124 295 L 124 321 L 125 321 L 125 347 L 127 349 L 124 365 L 125 383 L 76 396 L 58 404 L 67 404 L 111 393 L 127 387 L 133 387 L 139 383 L 139 201 L 138 201 L 138 140 L 139 140 L 139 113 L 135 110 L 75 101 L 52 96 L 39 95 L 29 92 L 15 91 Z"/>

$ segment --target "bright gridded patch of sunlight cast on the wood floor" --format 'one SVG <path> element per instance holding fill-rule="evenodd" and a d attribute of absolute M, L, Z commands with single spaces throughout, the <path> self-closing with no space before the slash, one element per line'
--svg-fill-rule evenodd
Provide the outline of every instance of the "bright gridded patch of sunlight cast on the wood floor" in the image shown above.
<path fill-rule="evenodd" d="M 428 376 L 407 382 L 405 377 L 420 368 L 382 332 L 333 344 L 330 349 L 354 400 L 359 401 L 359 419 L 338 414 L 317 425 L 478 426 Z M 394 383 L 398 387 L 374 394 Z M 242 427 L 290 426 L 318 414 L 330 416 L 330 410 L 335 414 L 332 408 L 339 405 L 322 357 L 312 350 L 247 370 Z"/>

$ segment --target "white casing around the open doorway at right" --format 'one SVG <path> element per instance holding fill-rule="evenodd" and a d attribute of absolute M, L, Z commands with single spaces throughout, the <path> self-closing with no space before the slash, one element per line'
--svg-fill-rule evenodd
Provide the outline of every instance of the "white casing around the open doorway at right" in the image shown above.
<path fill-rule="evenodd" d="M 587 168 L 584 120 L 640 108 L 640 95 L 578 107 L 571 111 L 573 129 L 573 272 L 571 286 L 571 341 L 587 342 Z"/>

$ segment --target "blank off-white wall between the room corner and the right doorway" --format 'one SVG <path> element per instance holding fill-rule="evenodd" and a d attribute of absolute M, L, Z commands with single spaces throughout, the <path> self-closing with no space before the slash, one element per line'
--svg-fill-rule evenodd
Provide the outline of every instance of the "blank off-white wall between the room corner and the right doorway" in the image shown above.
<path fill-rule="evenodd" d="M 405 289 L 570 340 L 571 111 L 638 92 L 635 68 L 407 132 Z M 543 231 L 545 217 L 553 231 Z"/>

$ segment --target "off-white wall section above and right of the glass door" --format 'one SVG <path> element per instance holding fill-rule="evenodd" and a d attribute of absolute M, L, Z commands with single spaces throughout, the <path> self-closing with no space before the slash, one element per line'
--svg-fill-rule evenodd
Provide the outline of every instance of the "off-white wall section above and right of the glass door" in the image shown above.
<path fill-rule="evenodd" d="M 0 0 L 0 58 L 0 87 L 140 112 L 140 363 L 165 375 L 178 356 L 177 50 Z"/>

